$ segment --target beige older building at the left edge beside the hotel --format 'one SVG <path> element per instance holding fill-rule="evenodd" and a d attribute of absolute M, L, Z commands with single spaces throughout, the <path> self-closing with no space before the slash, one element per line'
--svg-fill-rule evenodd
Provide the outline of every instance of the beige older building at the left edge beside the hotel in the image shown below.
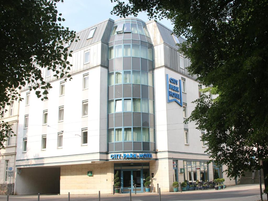
<path fill-rule="evenodd" d="M 12 195 L 14 192 L 17 147 L 17 136 L 14 136 L 14 134 L 17 134 L 18 129 L 19 101 L 10 101 L 10 105 L 6 105 L 5 109 L 8 111 L 6 111 L 1 121 L 9 122 L 14 133 L 9 133 L 9 137 L 4 143 L 5 148 L 0 149 L 0 194 Z M 8 171 L 13 171 L 13 176 L 8 174 Z"/>

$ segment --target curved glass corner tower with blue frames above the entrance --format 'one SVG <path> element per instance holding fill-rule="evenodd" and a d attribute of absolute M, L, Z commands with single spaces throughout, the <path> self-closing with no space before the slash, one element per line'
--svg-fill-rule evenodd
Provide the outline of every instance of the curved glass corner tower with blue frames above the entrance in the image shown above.
<path fill-rule="evenodd" d="M 146 24 L 116 21 L 108 51 L 108 150 L 154 152 L 153 46 Z"/>

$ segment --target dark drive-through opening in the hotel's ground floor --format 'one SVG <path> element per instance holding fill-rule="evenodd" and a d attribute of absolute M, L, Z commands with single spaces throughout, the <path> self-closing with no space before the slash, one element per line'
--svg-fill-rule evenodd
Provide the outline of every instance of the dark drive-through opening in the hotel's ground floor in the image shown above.
<path fill-rule="evenodd" d="M 15 195 L 59 193 L 60 168 L 21 168 Z"/>

